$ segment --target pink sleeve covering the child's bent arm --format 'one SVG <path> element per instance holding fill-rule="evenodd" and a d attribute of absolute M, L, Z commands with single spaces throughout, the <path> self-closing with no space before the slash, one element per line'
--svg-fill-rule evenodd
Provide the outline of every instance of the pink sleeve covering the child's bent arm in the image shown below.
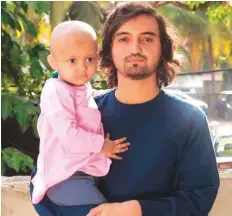
<path fill-rule="evenodd" d="M 104 136 L 78 126 L 74 98 L 62 85 L 56 81 L 46 82 L 41 93 L 40 108 L 52 127 L 52 135 L 59 139 L 67 155 L 101 151 Z M 43 124 L 38 127 L 43 127 Z"/>

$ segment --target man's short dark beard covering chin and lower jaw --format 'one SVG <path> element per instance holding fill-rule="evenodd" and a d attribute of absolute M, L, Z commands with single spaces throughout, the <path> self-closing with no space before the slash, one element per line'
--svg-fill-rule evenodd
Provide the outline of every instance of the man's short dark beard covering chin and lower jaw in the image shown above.
<path fill-rule="evenodd" d="M 124 69 L 122 71 L 119 70 L 123 76 L 128 77 L 132 80 L 142 80 L 145 79 L 155 72 L 154 68 L 149 68 L 147 65 L 139 65 L 139 64 L 132 64 L 126 65 L 124 64 Z"/>

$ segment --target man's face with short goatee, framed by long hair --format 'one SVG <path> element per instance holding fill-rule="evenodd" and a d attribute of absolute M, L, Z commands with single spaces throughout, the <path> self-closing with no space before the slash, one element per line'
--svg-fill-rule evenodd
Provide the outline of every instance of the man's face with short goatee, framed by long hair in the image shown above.
<path fill-rule="evenodd" d="M 112 57 L 118 73 L 134 80 L 156 72 L 161 56 L 158 23 L 140 15 L 125 22 L 114 34 Z"/>

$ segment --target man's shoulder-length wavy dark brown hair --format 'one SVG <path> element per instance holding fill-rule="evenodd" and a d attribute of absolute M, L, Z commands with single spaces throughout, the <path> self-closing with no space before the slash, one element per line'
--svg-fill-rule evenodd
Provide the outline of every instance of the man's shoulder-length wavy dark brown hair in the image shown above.
<path fill-rule="evenodd" d="M 108 87 L 113 88 L 118 85 L 117 70 L 112 59 L 112 40 L 115 32 L 122 24 L 131 18 L 139 15 L 152 16 L 156 19 L 159 27 L 161 42 L 161 58 L 157 68 L 157 85 L 159 88 L 167 86 L 175 77 L 175 67 L 179 65 L 174 60 L 174 41 L 167 32 L 167 24 L 163 17 L 147 4 L 141 3 L 120 3 L 108 15 L 103 31 L 102 49 L 100 51 L 101 66 L 108 68 L 106 73 Z"/>

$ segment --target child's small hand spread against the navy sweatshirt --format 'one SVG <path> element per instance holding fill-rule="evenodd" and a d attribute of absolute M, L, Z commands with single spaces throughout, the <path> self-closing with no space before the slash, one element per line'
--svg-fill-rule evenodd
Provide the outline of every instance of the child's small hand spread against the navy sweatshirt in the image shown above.
<path fill-rule="evenodd" d="M 121 160 L 122 157 L 116 154 L 127 151 L 130 145 L 130 143 L 123 143 L 124 141 L 126 141 L 126 137 L 112 141 L 110 140 L 110 135 L 107 134 L 101 152 L 107 157 Z"/>

